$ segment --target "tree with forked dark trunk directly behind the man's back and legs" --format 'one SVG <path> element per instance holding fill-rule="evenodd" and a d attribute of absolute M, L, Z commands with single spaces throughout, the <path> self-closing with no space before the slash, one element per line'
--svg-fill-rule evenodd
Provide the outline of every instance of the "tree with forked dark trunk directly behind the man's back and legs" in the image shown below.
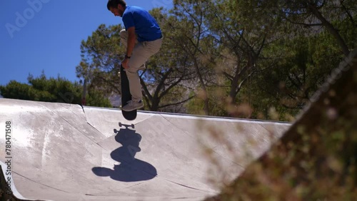
<path fill-rule="evenodd" d="M 183 103 L 190 100 L 188 82 L 194 78 L 187 68 L 188 56 L 178 47 L 180 36 L 174 24 L 176 19 L 161 9 L 151 14 L 159 22 L 164 33 L 161 50 L 147 63 L 147 70 L 141 73 L 141 86 L 149 110 L 183 112 Z"/>

